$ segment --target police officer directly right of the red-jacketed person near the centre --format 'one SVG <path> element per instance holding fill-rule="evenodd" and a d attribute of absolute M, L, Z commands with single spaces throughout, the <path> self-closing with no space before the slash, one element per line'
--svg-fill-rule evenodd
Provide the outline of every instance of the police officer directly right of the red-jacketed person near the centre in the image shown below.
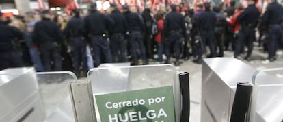
<path fill-rule="evenodd" d="M 177 5 L 172 4 L 171 6 L 172 11 L 166 15 L 164 21 L 164 28 L 163 32 L 165 33 L 165 37 L 167 38 L 167 42 L 165 42 L 165 54 L 166 54 L 166 62 L 170 62 L 170 49 L 171 46 L 174 45 L 175 50 L 175 58 L 176 62 L 175 65 L 180 65 L 180 40 L 185 37 L 186 28 L 185 28 L 185 21 L 183 16 L 176 12 Z"/>

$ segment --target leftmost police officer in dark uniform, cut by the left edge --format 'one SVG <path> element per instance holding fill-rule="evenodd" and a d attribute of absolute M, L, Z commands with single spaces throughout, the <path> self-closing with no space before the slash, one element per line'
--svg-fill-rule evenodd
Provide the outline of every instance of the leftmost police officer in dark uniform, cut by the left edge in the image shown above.
<path fill-rule="evenodd" d="M 5 25 L 0 12 L 0 70 L 24 66 L 20 53 L 14 48 L 14 41 L 23 39 L 23 33 L 16 27 Z"/>

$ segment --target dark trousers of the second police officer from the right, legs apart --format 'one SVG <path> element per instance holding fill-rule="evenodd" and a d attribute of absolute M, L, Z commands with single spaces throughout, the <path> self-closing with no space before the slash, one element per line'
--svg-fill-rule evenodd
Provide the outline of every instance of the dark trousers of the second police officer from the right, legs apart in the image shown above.
<path fill-rule="evenodd" d="M 250 57 L 252 55 L 252 49 L 254 48 L 254 39 L 255 39 L 255 31 L 254 31 L 254 28 L 252 27 L 243 27 L 239 34 L 238 34 L 238 39 L 236 41 L 236 48 L 235 48 L 235 51 L 234 51 L 234 56 L 237 58 L 244 45 L 247 44 L 247 57 Z"/>

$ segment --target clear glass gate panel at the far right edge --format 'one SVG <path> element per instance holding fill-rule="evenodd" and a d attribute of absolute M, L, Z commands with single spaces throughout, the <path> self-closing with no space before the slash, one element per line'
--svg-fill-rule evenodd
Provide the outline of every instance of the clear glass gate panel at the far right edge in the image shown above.
<path fill-rule="evenodd" d="M 259 69 L 252 83 L 250 121 L 283 121 L 283 68 Z"/>

